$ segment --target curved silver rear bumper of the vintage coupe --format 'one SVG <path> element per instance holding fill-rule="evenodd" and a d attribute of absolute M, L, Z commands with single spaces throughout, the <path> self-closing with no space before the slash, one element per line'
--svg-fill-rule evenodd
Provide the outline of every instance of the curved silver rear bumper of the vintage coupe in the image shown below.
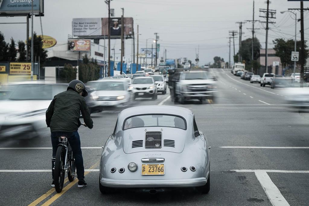
<path fill-rule="evenodd" d="M 204 177 L 193 179 L 160 179 L 160 180 L 132 180 L 132 179 L 100 179 L 104 187 L 140 188 L 140 187 L 199 187 L 207 183 Z"/>

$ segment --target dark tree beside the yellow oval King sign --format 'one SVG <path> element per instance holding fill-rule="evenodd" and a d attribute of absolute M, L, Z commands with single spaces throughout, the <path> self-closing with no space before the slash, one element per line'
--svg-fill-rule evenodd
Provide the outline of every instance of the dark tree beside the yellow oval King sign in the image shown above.
<path fill-rule="evenodd" d="M 29 57 L 31 58 L 31 38 L 29 38 L 28 50 Z M 40 65 L 44 66 L 44 63 L 47 59 L 47 51 L 43 48 L 42 38 L 36 35 L 36 32 L 33 34 L 33 59 L 36 57 L 36 61 L 39 61 L 40 57 Z"/>

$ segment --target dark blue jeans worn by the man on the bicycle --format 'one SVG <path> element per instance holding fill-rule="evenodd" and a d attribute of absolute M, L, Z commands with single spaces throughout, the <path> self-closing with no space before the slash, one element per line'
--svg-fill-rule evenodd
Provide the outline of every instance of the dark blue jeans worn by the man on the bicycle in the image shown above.
<path fill-rule="evenodd" d="M 79 134 L 77 131 L 68 133 L 68 132 L 51 132 L 51 140 L 52 140 L 52 146 L 53 146 L 53 157 L 56 156 L 57 147 L 59 141 L 58 137 L 60 136 L 66 136 L 68 138 L 68 141 L 70 143 L 70 146 L 72 148 L 72 152 L 75 159 L 75 165 L 76 165 L 76 173 L 78 179 L 84 179 L 84 161 L 83 161 L 83 155 L 82 155 L 82 149 L 80 148 L 80 139 Z M 55 161 L 52 161 L 52 168 L 54 167 Z M 52 170 L 52 176 L 54 179 L 54 170 Z"/>

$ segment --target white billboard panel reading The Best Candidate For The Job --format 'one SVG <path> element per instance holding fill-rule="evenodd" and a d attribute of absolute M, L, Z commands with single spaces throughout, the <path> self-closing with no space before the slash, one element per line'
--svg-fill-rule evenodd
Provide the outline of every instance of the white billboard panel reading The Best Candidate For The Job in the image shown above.
<path fill-rule="evenodd" d="M 101 21 L 101 18 L 73 19 L 72 34 L 73 36 L 100 36 L 102 35 Z"/>

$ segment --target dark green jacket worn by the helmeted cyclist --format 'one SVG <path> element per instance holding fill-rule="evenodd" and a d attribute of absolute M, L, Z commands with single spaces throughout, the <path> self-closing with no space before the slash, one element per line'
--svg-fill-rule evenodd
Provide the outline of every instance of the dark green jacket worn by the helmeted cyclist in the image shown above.
<path fill-rule="evenodd" d="M 74 132 L 81 125 L 80 113 L 88 128 L 93 121 L 85 99 L 74 90 L 67 90 L 54 96 L 46 111 L 46 124 L 51 132 Z"/>

